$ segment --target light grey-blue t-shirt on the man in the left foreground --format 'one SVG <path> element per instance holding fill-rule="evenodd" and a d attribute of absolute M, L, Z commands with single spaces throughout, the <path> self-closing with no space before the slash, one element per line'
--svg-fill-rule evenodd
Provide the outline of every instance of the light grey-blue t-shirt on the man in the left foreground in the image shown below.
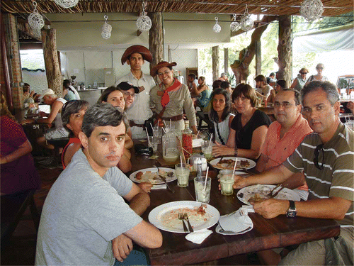
<path fill-rule="evenodd" d="M 45 199 L 35 265 L 113 265 L 111 240 L 142 221 L 122 198 L 131 189 L 118 167 L 101 177 L 77 151 Z"/>

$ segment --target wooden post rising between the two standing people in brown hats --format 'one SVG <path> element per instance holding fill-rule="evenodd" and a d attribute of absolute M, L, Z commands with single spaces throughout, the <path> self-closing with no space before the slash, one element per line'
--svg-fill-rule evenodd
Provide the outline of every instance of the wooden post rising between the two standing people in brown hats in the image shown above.
<path fill-rule="evenodd" d="M 164 31 L 161 13 L 149 13 L 152 28 L 149 31 L 149 50 L 152 52 L 150 70 L 164 58 Z"/>

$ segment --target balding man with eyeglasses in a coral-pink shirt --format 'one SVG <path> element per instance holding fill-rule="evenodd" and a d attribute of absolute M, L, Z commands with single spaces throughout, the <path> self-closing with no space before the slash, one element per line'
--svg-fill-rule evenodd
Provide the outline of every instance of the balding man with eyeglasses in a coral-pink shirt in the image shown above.
<path fill-rule="evenodd" d="M 299 92 L 293 89 L 282 89 L 275 96 L 273 106 L 277 121 L 271 123 L 268 128 L 261 148 L 261 156 L 256 165 L 258 172 L 281 165 L 294 152 L 304 137 L 312 132 L 309 123 L 301 115 L 302 105 Z M 307 200 L 309 194 L 307 185 L 299 187 L 297 185 L 298 179 L 304 179 L 302 172 L 292 174 L 284 184 L 295 189 L 302 199 Z"/>

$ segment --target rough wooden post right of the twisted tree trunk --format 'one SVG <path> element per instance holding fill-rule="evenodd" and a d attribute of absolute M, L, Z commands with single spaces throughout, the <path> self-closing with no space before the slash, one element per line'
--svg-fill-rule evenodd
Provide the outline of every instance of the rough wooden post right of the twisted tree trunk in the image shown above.
<path fill-rule="evenodd" d="M 287 86 L 291 84 L 292 77 L 292 28 L 291 16 L 279 17 L 279 79 L 284 79 Z"/>

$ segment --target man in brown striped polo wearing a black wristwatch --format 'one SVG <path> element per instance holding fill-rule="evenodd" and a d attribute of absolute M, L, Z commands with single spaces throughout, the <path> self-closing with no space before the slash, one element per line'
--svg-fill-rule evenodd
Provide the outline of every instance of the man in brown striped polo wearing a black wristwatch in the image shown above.
<path fill-rule="evenodd" d="M 354 133 L 339 120 L 339 95 L 333 84 L 311 82 L 301 96 L 302 114 L 314 133 L 307 135 L 282 165 L 247 178 L 236 176 L 234 188 L 279 184 L 303 171 L 309 187 L 307 201 L 267 199 L 255 203 L 254 210 L 265 218 L 286 214 L 289 218 L 335 219 L 341 225 L 341 235 L 303 243 L 280 265 L 338 265 L 340 260 L 343 265 L 353 265 Z"/>

